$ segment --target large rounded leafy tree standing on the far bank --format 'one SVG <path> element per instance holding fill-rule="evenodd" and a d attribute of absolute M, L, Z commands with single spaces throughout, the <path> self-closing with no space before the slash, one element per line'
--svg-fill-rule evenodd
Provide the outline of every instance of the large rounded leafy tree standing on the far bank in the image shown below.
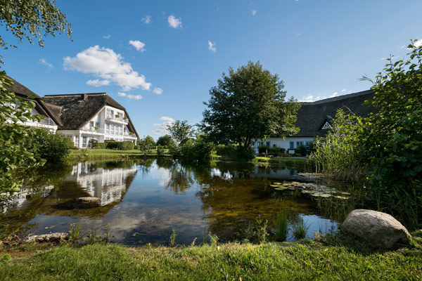
<path fill-rule="evenodd" d="M 200 127 L 215 143 L 244 148 L 257 139 L 297 133 L 294 122 L 300 103 L 286 100 L 283 88 L 279 75 L 264 70 L 260 62 L 250 61 L 237 70 L 230 67 L 210 89 Z"/>

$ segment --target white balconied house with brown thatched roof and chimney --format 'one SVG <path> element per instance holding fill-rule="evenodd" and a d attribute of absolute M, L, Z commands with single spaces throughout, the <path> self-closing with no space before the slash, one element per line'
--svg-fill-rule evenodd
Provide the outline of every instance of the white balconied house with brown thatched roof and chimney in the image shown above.
<path fill-rule="evenodd" d="M 47 95 L 43 100 L 60 120 L 58 129 L 77 148 L 88 148 L 89 140 L 134 142 L 139 137 L 127 111 L 107 93 Z"/>

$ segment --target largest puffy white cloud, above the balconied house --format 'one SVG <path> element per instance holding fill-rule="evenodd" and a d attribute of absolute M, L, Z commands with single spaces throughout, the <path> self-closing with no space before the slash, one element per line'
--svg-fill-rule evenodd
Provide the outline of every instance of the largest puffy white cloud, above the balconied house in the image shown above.
<path fill-rule="evenodd" d="M 122 55 L 110 48 L 100 48 L 96 45 L 77 53 L 74 58 L 65 57 L 63 60 L 65 70 L 77 70 L 113 81 L 121 86 L 123 91 L 139 87 L 149 90 L 151 87 L 151 83 L 145 81 L 145 76 L 139 75 L 130 63 L 124 61 Z"/>

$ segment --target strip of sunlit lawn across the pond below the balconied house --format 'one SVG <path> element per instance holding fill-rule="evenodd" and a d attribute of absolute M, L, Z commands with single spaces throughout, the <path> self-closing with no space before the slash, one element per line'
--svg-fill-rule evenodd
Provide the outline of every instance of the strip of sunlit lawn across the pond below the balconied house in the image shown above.
<path fill-rule="evenodd" d="M 156 157 L 157 153 L 148 153 L 146 157 Z M 165 155 L 170 156 L 170 155 Z M 70 150 L 69 160 L 79 159 L 109 159 L 109 158 L 136 158 L 144 157 L 140 150 L 110 150 L 110 149 L 87 149 Z"/>

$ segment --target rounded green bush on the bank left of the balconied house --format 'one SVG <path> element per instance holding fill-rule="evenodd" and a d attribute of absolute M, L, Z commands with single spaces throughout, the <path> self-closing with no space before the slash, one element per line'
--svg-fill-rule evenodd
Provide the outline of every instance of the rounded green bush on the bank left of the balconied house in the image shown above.
<path fill-rule="evenodd" d="M 47 162 L 60 162 L 69 155 L 73 142 L 61 135 L 52 133 L 47 129 L 35 128 L 31 137 L 27 138 L 27 148 L 32 150 L 37 159 L 46 159 Z"/>

